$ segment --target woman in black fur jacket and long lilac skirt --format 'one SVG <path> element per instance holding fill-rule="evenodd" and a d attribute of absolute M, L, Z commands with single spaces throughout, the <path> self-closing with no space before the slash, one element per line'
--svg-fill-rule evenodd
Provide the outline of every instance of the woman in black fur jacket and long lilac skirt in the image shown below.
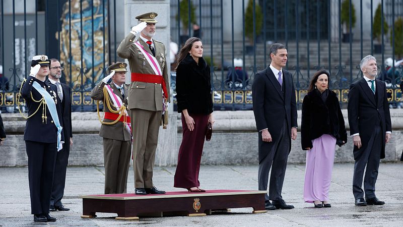
<path fill-rule="evenodd" d="M 302 103 L 301 145 L 306 150 L 304 201 L 330 207 L 328 193 L 335 145 L 347 142 L 339 99 L 328 89 L 329 73 L 313 75 Z"/>

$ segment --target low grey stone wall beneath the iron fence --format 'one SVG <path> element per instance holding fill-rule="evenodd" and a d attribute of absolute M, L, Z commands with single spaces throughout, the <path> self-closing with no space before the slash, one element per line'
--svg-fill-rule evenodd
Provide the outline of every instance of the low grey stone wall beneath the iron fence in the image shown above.
<path fill-rule="evenodd" d="M 392 140 L 386 145 L 383 161 L 397 161 L 403 149 L 403 110 L 391 109 Z M 347 121 L 347 110 L 343 110 Z M 215 111 L 216 124 L 212 140 L 205 142 L 202 164 L 257 164 L 257 133 L 252 111 Z M 298 112 L 301 116 L 301 112 Z M 0 146 L 0 166 L 27 165 L 23 133 L 25 120 L 18 113 L 3 113 L 7 139 Z M 73 112 L 73 141 L 69 165 L 103 165 L 102 138 L 98 136 L 100 123 L 96 112 Z M 160 129 L 156 153 L 158 166 L 176 165 L 178 149 L 182 140 L 180 115 L 170 117 L 168 129 Z M 298 124 L 301 119 L 298 119 Z M 289 163 L 305 162 L 305 151 L 301 149 L 300 134 L 292 141 Z M 400 142 L 399 142 L 400 141 Z M 173 144 L 176 144 L 173 145 Z M 169 147 L 176 147 L 174 149 Z M 335 162 L 352 162 L 353 143 L 336 149 Z"/>

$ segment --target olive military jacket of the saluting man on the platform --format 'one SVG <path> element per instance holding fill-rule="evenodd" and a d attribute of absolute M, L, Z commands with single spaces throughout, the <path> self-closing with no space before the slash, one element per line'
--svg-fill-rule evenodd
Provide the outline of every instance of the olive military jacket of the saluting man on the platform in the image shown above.
<path fill-rule="evenodd" d="M 133 43 L 135 35 L 129 33 L 117 47 L 117 55 L 121 58 L 127 59 L 130 66 L 131 73 L 142 73 L 142 74 L 154 74 L 154 70 L 151 68 L 150 64 L 147 62 L 146 58 L 140 49 Z M 139 42 L 144 46 L 144 49 L 151 55 L 152 52 L 147 43 L 143 39 L 139 38 Z M 165 59 L 165 46 L 162 42 L 153 39 L 155 46 L 155 58 L 157 63 L 160 65 L 162 70 L 162 76 L 164 77 L 167 98 L 170 102 L 169 95 L 169 78 L 168 78 L 168 68 Z M 162 110 L 162 88 L 161 84 L 157 83 L 146 83 L 140 81 L 132 81 L 128 92 L 128 107 L 129 109 L 139 108 L 151 111 Z"/>

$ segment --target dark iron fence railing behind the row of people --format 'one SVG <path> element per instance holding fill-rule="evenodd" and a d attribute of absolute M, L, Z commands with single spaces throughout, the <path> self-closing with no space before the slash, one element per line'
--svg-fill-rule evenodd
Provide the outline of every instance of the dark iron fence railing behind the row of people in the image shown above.
<path fill-rule="evenodd" d="M 403 65 L 394 62 L 403 56 L 403 0 L 345 1 L 170 0 L 171 40 L 179 46 L 189 36 L 203 40 L 204 57 L 214 69 L 216 110 L 251 109 L 254 75 L 270 64 L 268 47 L 275 42 L 288 48 L 286 68 L 293 73 L 299 106 L 311 75 L 322 68 L 330 72 L 329 87 L 345 106 L 350 83 L 362 76 L 360 60 L 372 54 L 378 78 L 387 82 L 390 106 L 400 107 Z M 18 101 L 24 104 L 16 93 L 32 56 L 45 53 L 64 66 L 62 82 L 72 87 L 74 111 L 94 111 L 91 89 L 105 68 L 120 60 L 116 48 L 124 28 L 117 24 L 124 6 L 119 4 L 0 0 L 1 110 L 15 112 Z M 174 88 L 174 73 L 171 80 Z"/>

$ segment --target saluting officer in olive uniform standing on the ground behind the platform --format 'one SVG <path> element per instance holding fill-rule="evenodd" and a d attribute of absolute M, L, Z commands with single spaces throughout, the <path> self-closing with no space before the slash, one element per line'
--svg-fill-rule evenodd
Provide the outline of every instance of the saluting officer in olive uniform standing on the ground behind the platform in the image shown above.
<path fill-rule="evenodd" d="M 130 117 L 127 109 L 126 63 L 108 67 L 110 74 L 91 91 L 91 98 L 104 103 L 99 136 L 104 139 L 105 194 L 126 193 L 131 153 Z M 112 79 L 110 84 L 107 84 Z M 98 103 L 98 101 L 97 101 Z"/>

